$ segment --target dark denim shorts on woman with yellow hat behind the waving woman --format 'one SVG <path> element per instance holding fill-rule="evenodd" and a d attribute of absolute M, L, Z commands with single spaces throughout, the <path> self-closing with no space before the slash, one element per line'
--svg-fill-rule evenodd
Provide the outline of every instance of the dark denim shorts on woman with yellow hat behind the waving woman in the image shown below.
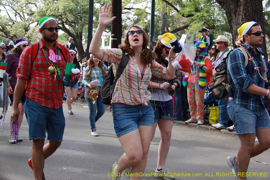
<path fill-rule="evenodd" d="M 165 101 L 165 114 L 164 114 L 164 102 L 163 101 L 151 101 L 153 110 L 155 111 L 154 122 L 158 122 L 160 119 L 174 120 L 174 107 L 173 100 Z M 161 104 L 160 104 L 161 103 Z M 167 116 L 166 116 L 167 115 Z"/>

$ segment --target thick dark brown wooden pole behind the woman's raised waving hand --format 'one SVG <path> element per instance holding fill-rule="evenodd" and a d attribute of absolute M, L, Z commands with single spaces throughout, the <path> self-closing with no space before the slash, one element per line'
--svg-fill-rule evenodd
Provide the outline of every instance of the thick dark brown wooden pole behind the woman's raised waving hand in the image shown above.
<path fill-rule="evenodd" d="M 118 48 L 122 44 L 122 0 L 112 0 L 112 17 L 116 18 L 111 23 L 111 48 Z"/>

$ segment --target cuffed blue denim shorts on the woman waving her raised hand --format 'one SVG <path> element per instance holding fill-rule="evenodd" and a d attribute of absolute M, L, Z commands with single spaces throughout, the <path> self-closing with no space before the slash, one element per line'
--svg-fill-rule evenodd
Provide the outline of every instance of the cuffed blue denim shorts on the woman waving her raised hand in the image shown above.
<path fill-rule="evenodd" d="M 138 126 L 154 126 L 154 111 L 150 102 L 135 106 L 115 105 L 113 109 L 114 131 L 117 137 L 138 129 Z"/>

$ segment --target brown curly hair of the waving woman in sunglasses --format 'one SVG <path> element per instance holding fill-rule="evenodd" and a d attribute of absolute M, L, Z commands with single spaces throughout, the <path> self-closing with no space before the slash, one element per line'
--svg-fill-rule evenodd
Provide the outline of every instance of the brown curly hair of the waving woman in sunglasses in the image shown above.
<path fill-rule="evenodd" d="M 136 25 L 132 25 L 130 27 L 128 27 L 128 29 L 130 29 L 131 27 L 135 27 L 137 29 L 140 29 L 143 32 L 143 52 L 141 54 L 141 59 L 144 63 L 146 64 L 150 64 L 154 59 L 155 59 L 155 55 L 152 52 L 151 49 L 148 49 L 147 46 L 149 44 L 149 38 L 148 35 L 146 34 L 146 32 L 140 28 L 139 26 Z M 122 49 L 123 51 L 127 52 L 129 55 L 135 55 L 135 51 L 130 47 L 130 43 L 128 41 L 128 33 L 126 33 L 125 35 L 125 40 L 124 40 L 124 45 L 120 44 L 118 46 L 119 49 Z"/>

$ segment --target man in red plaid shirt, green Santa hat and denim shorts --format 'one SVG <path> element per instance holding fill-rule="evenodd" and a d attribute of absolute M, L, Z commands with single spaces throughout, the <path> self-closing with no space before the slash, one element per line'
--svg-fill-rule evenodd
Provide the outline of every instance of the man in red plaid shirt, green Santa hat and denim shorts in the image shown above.
<path fill-rule="evenodd" d="M 57 43 L 58 31 L 54 18 L 39 19 L 42 38 L 22 52 L 14 90 L 11 118 L 16 122 L 19 116 L 19 99 L 28 81 L 24 112 L 29 125 L 29 140 L 33 140 L 28 164 L 37 180 L 45 180 L 44 159 L 61 145 L 65 127 L 61 80 L 66 63 L 70 62 L 70 53 L 66 47 Z M 44 145 L 46 132 L 49 143 Z"/>

